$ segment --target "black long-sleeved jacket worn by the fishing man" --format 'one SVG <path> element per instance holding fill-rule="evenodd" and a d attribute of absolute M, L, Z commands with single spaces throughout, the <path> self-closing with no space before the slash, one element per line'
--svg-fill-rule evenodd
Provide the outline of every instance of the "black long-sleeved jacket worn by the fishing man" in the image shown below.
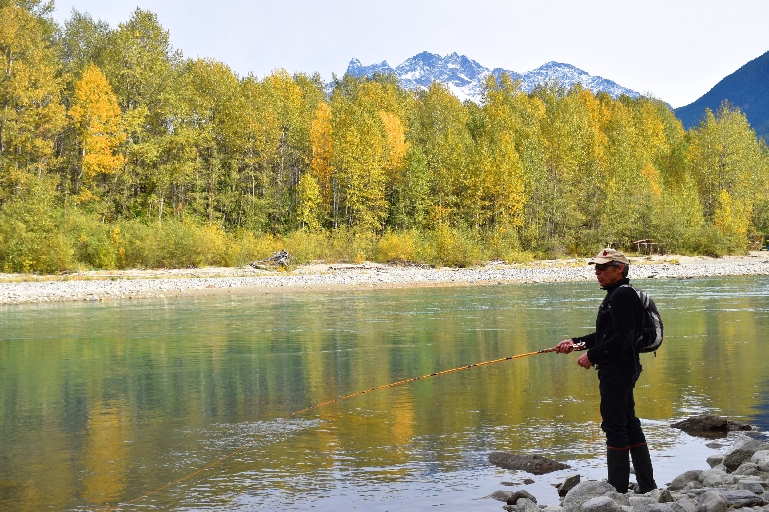
<path fill-rule="evenodd" d="M 641 301 L 634 289 L 622 285 L 630 283 L 624 278 L 606 290 L 606 297 L 598 308 L 595 332 L 575 336 L 574 343 L 584 342 L 588 358 L 596 365 L 622 366 L 641 373 L 641 362 L 635 350 L 636 333 L 641 325 Z"/>

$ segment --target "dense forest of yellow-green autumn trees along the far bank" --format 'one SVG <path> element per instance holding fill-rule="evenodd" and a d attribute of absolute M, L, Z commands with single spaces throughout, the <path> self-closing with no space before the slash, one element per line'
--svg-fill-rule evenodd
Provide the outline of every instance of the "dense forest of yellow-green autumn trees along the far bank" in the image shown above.
<path fill-rule="evenodd" d="M 0 0 L 0 262 L 469 264 L 628 248 L 726 253 L 769 231 L 769 153 L 739 109 L 685 131 L 661 101 L 576 85 L 481 106 L 394 75 L 240 77 L 151 12 L 111 28 Z"/>

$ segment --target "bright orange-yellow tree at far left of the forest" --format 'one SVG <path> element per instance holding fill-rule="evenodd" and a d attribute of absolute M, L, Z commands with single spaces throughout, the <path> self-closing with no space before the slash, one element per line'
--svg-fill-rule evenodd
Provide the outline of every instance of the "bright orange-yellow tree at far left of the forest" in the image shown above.
<path fill-rule="evenodd" d="M 82 156 L 78 180 L 84 177 L 88 185 L 98 175 L 114 173 L 125 164 L 125 157 L 117 152 L 118 145 L 125 140 L 120 107 L 107 77 L 96 66 L 88 66 L 83 78 L 75 82 L 69 116 Z"/>

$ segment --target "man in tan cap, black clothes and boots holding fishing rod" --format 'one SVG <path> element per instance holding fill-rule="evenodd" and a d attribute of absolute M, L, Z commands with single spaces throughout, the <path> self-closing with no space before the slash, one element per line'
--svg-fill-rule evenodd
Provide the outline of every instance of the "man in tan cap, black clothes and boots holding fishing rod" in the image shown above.
<path fill-rule="evenodd" d="M 633 388 L 641 374 L 635 340 L 638 339 L 643 306 L 634 289 L 621 287 L 630 282 L 627 256 L 614 249 L 604 249 L 588 264 L 595 265 L 598 284 L 606 290 L 606 298 L 598 308 L 595 332 L 558 343 L 556 352 L 568 354 L 574 350 L 574 345 L 584 342 L 588 352 L 577 362 L 586 370 L 592 365 L 598 366 L 608 482 L 618 492 L 628 492 L 632 457 L 638 480 L 634 491 L 647 493 L 656 489 L 657 484 L 641 421 L 635 417 L 633 400 Z"/>

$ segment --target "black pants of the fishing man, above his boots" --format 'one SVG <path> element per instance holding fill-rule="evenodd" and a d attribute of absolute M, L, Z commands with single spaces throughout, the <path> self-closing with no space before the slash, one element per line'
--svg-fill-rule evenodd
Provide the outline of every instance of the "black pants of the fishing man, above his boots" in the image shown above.
<path fill-rule="evenodd" d="M 638 374 L 634 368 L 600 366 L 598 390 L 601 391 L 601 430 L 606 432 L 610 448 L 628 448 L 646 442 L 641 421 L 635 417 L 633 388 Z"/>

